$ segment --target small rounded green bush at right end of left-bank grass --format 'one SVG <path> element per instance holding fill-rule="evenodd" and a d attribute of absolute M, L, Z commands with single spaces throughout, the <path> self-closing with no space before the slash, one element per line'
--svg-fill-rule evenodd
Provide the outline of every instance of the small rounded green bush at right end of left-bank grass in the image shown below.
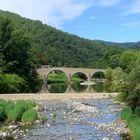
<path fill-rule="evenodd" d="M 37 119 L 38 119 L 38 114 L 36 111 L 33 111 L 33 110 L 28 110 L 28 111 L 24 112 L 24 114 L 22 116 L 22 122 L 24 122 L 26 124 L 32 124 Z"/>

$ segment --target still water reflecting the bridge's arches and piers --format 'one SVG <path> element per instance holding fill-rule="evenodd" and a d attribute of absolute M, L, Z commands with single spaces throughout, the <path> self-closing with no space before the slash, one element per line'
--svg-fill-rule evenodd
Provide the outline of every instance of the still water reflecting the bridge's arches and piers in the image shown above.
<path fill-rule="evenodd" d="M 48 93 L 102 93 L 105 91 L 104 82 L 94 85 L 81 85 L 80 83 L 55 83 L 43 87 L 42 92 Z"/>

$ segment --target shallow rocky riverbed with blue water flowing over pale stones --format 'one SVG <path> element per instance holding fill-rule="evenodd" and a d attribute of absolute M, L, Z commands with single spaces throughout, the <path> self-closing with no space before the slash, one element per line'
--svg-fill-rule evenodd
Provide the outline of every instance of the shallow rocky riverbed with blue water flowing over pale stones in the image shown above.
<path fill-rule="evenodd" d="M 113 99 L 39 101 L 48 121 L 21 140 L 121 140 L 127 133 L 120 106 Z M 54 115 L 55 114 L 55 115 Z"/>

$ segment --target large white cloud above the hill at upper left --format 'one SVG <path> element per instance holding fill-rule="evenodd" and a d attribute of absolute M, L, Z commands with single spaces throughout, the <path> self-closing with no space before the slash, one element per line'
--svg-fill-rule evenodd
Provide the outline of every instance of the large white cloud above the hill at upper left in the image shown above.
<path fill-rule="evenodd" d="M 83 14 L 92 6 L 107 7 L 120 0 L 0 0 L 0 9 L 21 16 L 41 20 L 55 27 L 61 27 L 67 20 Z"/>

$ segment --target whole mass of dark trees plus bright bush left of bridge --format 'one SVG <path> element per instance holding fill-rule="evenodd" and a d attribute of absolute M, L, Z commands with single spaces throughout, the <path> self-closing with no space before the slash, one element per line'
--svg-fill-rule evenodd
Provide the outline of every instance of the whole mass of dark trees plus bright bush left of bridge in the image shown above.
<path fill-rule="evenodd" d="M 8 17 L 0 17 L 0 92 L 35 92 L 40 81 L 30 40 Z"/>

